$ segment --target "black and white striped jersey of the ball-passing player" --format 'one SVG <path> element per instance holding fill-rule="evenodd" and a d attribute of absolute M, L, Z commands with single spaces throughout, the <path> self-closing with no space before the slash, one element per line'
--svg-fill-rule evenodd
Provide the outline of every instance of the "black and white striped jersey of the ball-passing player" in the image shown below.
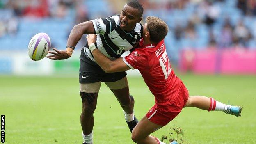
<path fill-rule="evenodd" d="M 125 51 L 135 47 L 143 34 L 141 23 L 137 23 L 130 32 L 121 30 L 119 15 L 91 21 L 97 34 L 96 47 L 110 59 L 119 58 Z M 85 47 L 84 53 L 96 62 L 89 48 Z"/>

